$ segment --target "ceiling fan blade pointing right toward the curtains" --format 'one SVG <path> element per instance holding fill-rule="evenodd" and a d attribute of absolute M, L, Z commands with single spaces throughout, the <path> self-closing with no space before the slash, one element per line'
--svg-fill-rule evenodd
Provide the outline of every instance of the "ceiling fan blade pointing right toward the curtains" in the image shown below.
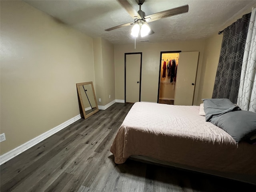
<path fill-rule="evenodd" d="M 162 18 L 166 18 L 166 17 L 170 17 L 170 16 L 174 16 L 174 15 L 178 15 L 178 14 L 186 13 L 186 12 L 188 12 L 188 5 L 184 5 L 181 7 L 176 7 L 173 9 L 154 13 L 154 14 L 145 16 L 145 19 L 147 20 L 148 18 L 150 18 L 151 20 L 149 20 L 148 22 L 152 22 L 152 21 L 156 21 L 158 19 L 162 19 Z"/>

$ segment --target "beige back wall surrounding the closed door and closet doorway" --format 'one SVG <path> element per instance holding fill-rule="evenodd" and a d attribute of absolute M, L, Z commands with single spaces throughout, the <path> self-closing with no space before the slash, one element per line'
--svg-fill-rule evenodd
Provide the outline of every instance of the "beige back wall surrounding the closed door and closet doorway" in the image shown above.
<path fill-rule="evenodd" d="M 141 101 L 157 102 L 158 78 L 161 51 L 199 51 L 198 69 L 194 93 L 194 105 L 200 90 L 201 68 L 204 54 L 204 40 L 159 44 L 115 45 L 116 99 L 124 100 L 124 53 L 142 52 Z"/>

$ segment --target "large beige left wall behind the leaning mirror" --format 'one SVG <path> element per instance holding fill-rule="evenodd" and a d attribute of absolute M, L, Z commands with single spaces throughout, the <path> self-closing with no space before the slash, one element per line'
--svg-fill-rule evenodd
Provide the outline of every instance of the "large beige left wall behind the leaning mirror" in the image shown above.
<path fill-rule="evenodd" d="M 76 83 L 95 82 L 92 38 L 22 1 L 1 1 L 4 154 L 80 114 Z"/>

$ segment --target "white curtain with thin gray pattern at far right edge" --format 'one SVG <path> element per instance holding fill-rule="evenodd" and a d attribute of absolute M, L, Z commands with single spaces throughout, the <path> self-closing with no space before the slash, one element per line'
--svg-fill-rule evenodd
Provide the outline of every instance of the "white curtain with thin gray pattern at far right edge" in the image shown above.
<path fill-rule="evenodd" d="M 237 104 L 242 110 L 256 112 L 256 8 L 252 9 Z"/>

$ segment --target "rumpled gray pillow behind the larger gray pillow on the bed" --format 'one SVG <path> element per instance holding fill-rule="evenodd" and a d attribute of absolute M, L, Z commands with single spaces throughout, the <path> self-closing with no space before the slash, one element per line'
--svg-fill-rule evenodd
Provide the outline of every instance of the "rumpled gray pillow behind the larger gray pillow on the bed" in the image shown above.
<path fill-rule="evenodd" d="M 203 99 L 205 120 L 210 121 L 212 117 L 220 116 L 230 111 L 241 110 L 229 99 Z"/>

